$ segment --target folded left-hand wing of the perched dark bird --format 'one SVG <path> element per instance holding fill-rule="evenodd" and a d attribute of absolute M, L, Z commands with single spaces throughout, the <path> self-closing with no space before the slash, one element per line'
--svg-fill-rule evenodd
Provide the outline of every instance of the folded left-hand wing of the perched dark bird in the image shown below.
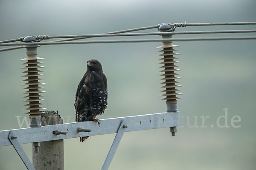
<path fill-rule="evenodd" d="M 75 110 L 76 122 L 86 120 L 88 108 L 91 105 L 92 78 L 90 74 L 84 74 L 76 90 Z"/>

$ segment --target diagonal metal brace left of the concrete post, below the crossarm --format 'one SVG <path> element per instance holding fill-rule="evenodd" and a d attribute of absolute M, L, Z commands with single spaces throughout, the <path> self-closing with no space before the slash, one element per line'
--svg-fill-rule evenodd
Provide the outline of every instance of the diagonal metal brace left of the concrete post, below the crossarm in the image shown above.
<path fill-rule="evenodd" d="M 20 146 L 17 137 L 13 134 L 12 131 L 10 131 L 9 136 L 8 136 L 9 141 L 12 143 L 12 146 L 15 148 L 16 152 L 20 156 L 21 160 L 25 164 L 26 168 L 28 170 L 35 170 L 35 167 L 32 165 L 32 163 L 29 161 L 28 156 L 26 156 L 26 153 Z"/>

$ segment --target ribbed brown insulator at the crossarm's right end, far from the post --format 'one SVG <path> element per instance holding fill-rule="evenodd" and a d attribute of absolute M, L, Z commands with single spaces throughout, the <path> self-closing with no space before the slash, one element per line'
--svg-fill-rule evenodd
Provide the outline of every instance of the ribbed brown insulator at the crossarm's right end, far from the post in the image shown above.
<path fill-rule="evenodd" d="M 159 60 L 163 60 L 162 62 L 158 64 L 163 64 L 163 66 L 160 66 L 160 68 L 163 68 L 163 70 L 158 72 L 164 72 L 164 74 L 160 76 L 164 76 L 164 78 L 159 80 L 164 80 L 161 84 L 164 84 L 164 86 L 160 88 L 165 88 L 165 90 L 161 92 L 166 92 L 165 94 L 162 94 L 160 96 L 166 96 L 166 98 L 162 100 L 166 100 L 166 104 L 176 104 L 177 99 L 180 99 L 177 97 L 177 95 L 181 95 L 180 93 L 177 93 L 177 91 L 180 91 L 179 89 L 176 89 L 177 87 L 181 87 L 181 85 L 177 85 L 176 83 L 179 83 L 175 79 L 181 79 L 180 77 L 175 77 L 175 75 L 179 75 L 176 73 L 176 71 L 180 71 L 177 69 L 177 65 L 175 63 L 179 63 L 178 61 L 175 61 L 175 59 L 178 59 L 177 57 L 174 57 L 175 55 L 180 55 L 178 53 L 175 53 L 174 51 L 177 51 L 173 49 L 174 47 L 178 47 L 178 45 L 173 45 L 172 42 L 163 42 L 163 45 L 157 47 L 157 48 L 163 48 L 163 50 L 159 52 L 163 52 L 162 54 L 159 54 L 157 56 L 163 56 L 163 58 L 160 58 Z"/>

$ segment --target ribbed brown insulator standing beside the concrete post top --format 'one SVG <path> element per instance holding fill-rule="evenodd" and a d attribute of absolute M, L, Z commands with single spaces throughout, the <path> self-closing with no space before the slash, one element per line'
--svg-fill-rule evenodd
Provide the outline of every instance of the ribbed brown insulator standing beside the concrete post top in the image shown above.
<path fill-rule="evenodd" d="M 40 91 L 39 89 L 42 88 L 39 85 L 45 84 L 42 82 L 39 82 L 43 79 L 38 78 L 39 76 L 44 76 L 43 74 L 38 74 L 38 72 L 42 72 L 38 70 L 38 68 L 44 68 L 44 66 L 40 66 L 38 64 L 42 64 L 42 62 L 38 62 L 38 59 L 43 59 L 37 57 L 38 51 L 26 51 L 27 58 L 21 59 L 21 60 L 27 60 L 27 62 L 23 63 L 26 64 L 25 68 L 26 71 L 23 71 L 23 73 L 27 73 L 26 75 L 22 77 L 28 77 L 27 79 L 24 79 L 23 81 L 27 81 L 27 83 L 23 85 L 28 85 L 28 87 L 23 88 L 27 89 L 28 91 L 23 92 L 22 94 L 26 94 L 27 96 L 24 96 L 24 98 L 29 98 L 26 100 L 23 100 L 23 102 L 29 102 L 29 104 L 26 104 L 25 106 L 29 106 L 29 108 L 25 108 L 23 110 L 29 110 L 28 113 L 30 115 L 40 115 L 43 113 L 40 111 L 41 109 L 45 109 L 40 107 L 41 104 L 40 101 L 45 101 L 44 99 L 40 99 L 41 95 L 39 93 L 44 93 L 45 91 Z"/>

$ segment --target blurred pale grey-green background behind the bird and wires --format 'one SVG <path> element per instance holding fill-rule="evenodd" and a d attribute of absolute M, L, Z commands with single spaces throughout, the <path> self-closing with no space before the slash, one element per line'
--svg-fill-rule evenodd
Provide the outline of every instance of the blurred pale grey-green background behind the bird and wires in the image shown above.
<path fill-rule="evenodd" d="M 99 34 L 160 23 L 255 22 L 255 0 L 0 0 L 0 40 L 28 35 Z M 255 29 L 256 26 L 198 26 L 176 31 Z M 157 29 L 140 31 L 157 32 Z M 177 35 L 174 37 L 249 36 L 255 34 Z M 114 37 L 108 39 L 160 38 Z M 94 40 L 94 39 L 90 39 Z M 175 42 L 180 55 L 178 100 L 181 123 L 169 128 L 125 133 L 110 170 L 253 170 L 256 167 L 256 40 Z M 99 119 L 166 111 L 161 97 L 156 47 L 160 42 L 44 45 L 47 110 L 75 122 L 73 103 L 88 59 L 98 59 L 108 78 L 108 110 Z M 0 130 L 19 128 L 28 116 L 21 84 L 26 49 L 0 52 Z M 230 127 L 218 127 L 224 116 Z M 200 116 L 209 116 L 204 125 Z M 234 122 L 240 116 L 241 122 Z M 195 122 L 196 120 L 196 122 Z M 235 120 L 238 120 L 236 117 Z M 192 125 L 198 127 L 191 127 Z M 224 118 L 220 125 L 224 125 Z M 204 126 L 204 127 L 202 127 Z M 26 127 L 25 123 L 22 127 Z M 99 170 L 115 134 L 86 142 L 64 140 L 65 169 Z M 31 159 L 31 144 L 22 145 Z M 0 147 L 1 170 L 25 170 L 12 146 Z"/>

